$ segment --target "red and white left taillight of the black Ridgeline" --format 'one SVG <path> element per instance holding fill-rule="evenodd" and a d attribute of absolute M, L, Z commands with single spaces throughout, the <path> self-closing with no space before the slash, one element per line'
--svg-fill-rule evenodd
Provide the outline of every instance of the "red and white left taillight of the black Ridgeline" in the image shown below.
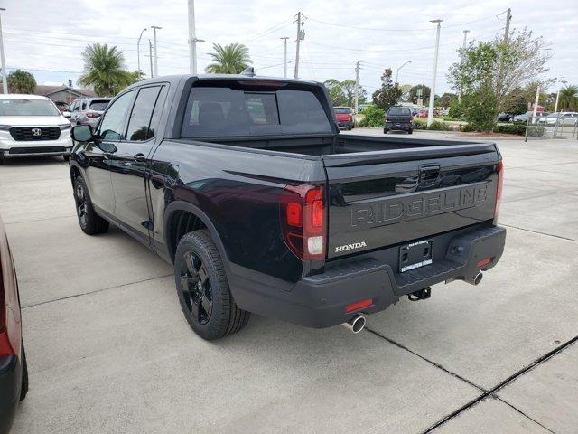
<path fill-rule="evenodd" d="M 280 217 L 284 241 L 297 258 L 325 258 L 327 215 L 321 185 L 287 185 Z"/>

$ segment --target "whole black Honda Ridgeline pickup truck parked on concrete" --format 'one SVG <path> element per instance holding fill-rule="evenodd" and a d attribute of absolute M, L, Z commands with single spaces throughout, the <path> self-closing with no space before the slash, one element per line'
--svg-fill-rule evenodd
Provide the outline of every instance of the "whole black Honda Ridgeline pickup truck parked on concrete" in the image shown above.
<path fill-rule="evenodd" d="M 496 265 L 494 144 L 340 134 L 322 84 L 248 75 L 144 80 L 74 127 L 82 231 L 109 222 L 174 264 L 205 339 L 251 312 L 348 325 Z"/>

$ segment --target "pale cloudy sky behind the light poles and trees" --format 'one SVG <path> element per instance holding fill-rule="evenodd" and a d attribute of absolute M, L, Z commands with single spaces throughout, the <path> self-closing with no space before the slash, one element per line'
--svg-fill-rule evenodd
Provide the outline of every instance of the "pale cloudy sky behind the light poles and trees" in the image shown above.
<path fill-rule="evenodd" d="M 125 53 L 126 67 L 136 70 L 136 40 L 141 42 L 141 68 L 148 73 L 151 25 L 158 31 L 159 74 L 187 73 L 187 0 L 0 0 L 5 58 L 9 71 L 33 72 L 39 84 L 76 81 L 82 71 L 80 52 L 87 43 L 108 42 Z M 578 84 L 578 1 L 419 0 L 393 2 L 357 0 L 196 0 L 200 70 L 210 62 L 212 43 L 247 45 L 258 74 L 283 76 L 288 36 L 289 74 L 293 75 L 296 24 L 304 16 L 300 77 L 309 80 L 354 79 L 361 61 L 360 83 L 371 93 L 384 68 L 396 69 L 401 83 L 431 85 L 435 25 L 443 19 L 436 93 L 451 90 L 446 73 L 457 60 L 463 30 L 469 40 L 489 40 L 504 32 L 505 11 L 512 8 L 511 28 L 527 27 L 551 45 L 550 71 L 545 78 Z M 554 6 L 554 7 L 553 7 Z M 555 90 L 557 85 L 551 90 Z"/>

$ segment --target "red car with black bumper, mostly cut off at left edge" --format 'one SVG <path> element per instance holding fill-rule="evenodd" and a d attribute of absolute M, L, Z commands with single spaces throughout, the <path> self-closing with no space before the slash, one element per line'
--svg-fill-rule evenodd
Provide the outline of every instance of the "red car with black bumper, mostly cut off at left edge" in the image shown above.
<path fill-rule="evenodd" d="M 28 392 L 18 282 L 0 219 L 0 434 L 10 431 L 18 401 Z"/>

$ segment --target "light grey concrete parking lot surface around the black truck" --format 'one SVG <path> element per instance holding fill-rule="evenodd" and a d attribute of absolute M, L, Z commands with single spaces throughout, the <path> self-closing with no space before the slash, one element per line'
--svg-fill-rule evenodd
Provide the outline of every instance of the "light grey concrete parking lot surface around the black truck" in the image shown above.
<path fill-rule="evenodd" d="M 30 371 L 14 433 L 576 432 L 578 141 L 499 149 L 508 238 L 480 286 L 403 298 L 359 335 L 252 316 L 211 343 L 169 264 L 80 231 L 61 159 L 0 166 Z"/>

